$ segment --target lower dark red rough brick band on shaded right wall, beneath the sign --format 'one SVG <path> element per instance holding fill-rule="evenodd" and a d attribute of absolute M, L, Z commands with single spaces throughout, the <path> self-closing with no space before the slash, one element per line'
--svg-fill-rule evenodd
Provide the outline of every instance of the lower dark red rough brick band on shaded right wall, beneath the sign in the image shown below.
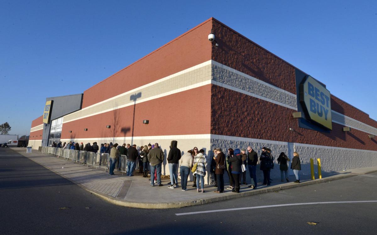
<path fill-rule="evenodd" d="M 377 141 L 363 131 L 343 132 L 334 122 L 331 133 L 299 128 L 294 110 L 216 85 L 211 96 L 211 134 L 377 150 Z"/>

